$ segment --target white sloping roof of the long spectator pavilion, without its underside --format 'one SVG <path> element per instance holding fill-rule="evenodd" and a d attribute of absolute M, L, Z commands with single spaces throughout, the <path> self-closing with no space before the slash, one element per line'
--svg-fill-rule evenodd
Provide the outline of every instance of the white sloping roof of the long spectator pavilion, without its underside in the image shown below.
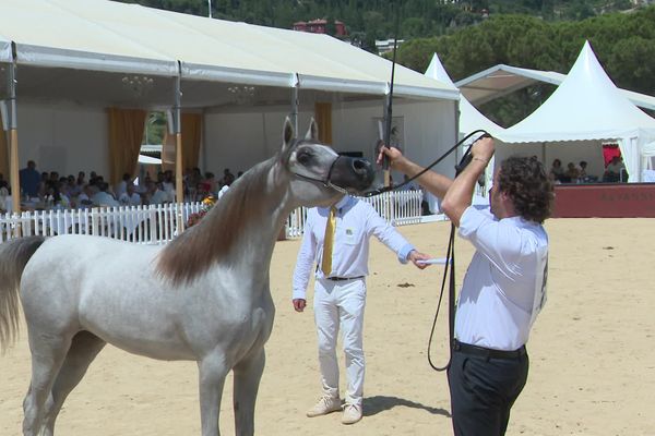
<path fill-rule="evenodd" d="M 2 0 L 0 29 L 23 65 L 172 77 L 179 62 L 191 81 L 293 87 L 300 77 L 302 88 L 374 95 L 391 80 L 389 60 L 327 35 L 107 0 Z M 457 98 L 401 65 L 394 82 L 398 96 Z"/>

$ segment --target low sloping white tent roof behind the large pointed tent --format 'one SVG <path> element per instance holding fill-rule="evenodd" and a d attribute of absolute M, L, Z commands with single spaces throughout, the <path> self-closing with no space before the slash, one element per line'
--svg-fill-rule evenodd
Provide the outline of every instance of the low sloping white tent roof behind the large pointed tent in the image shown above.
<path fill-rule="evenodd" d="M 479 106 L 537 82 L 559 85 L 565 77 L 555 71 L 529 70 L 501 63 L 463 78 L 455 86 L 468 101 Z M 634 105 L 655 110 L 655 97 L 628 89 L 619 90 Z"/>

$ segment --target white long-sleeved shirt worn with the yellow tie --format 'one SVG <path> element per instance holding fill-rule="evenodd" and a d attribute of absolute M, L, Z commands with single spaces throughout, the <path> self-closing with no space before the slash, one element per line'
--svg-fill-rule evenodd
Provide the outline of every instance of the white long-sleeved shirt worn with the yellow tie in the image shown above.
<path fill-rule="evenodd" d="M 307 284 L 313 265 L 321 265 L 323 238 L 330 208 L 314 207 L 307 213 L 305 234 L 296 269 L 294 271 L 294 299 L 306 299 Z M 336 204 L 336 228 L 332 251 L 332 272 L 330 277 L 367 276 L 369 239 L 374 235 L 380 242 L 397 254 L 401 263 L 414 246 L 389 225 L 367 202 L 345 196 Z M 321 268 L 314 268 L 315 278 L 322 279 Z"/>

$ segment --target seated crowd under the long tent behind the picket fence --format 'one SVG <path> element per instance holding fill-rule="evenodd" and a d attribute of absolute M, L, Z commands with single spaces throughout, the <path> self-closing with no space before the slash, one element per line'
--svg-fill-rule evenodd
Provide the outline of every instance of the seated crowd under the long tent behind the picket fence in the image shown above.
<path fill-rule="evenodd" d="M 241 172 L 239 172 L 239 175 Z M 111 186 L 103 175 L 91 171 L 80 171 L 78 177 L 60 177 L 57 171 L 37 172 L 31 160 L 20 171 L 21 203 L 26 208 L 71 209 L 112 206 L 139 206 L 172 203 L 176 199 L 175 178 L 170 170 L 160 171 L 155 180 L 146 174 L 143 180 L 123 174 L 122 180 Z M 234 182 L 229 169 L 217 180 L 213 173 L 202 177 L 199 168 L 188 170 L 183 177 L 184 201 L 202 201 L 209 195 L 218 198 Z M 8 211 L 8 197 L 11 187 L 0 173 L 0 213 Z"/>

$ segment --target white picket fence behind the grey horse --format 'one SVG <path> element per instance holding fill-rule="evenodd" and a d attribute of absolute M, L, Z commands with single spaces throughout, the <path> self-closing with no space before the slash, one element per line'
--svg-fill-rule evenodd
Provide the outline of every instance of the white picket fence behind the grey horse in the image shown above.
<path fill-rule="evenodd" d="M 389 192 L 370 198 L 378 213 L 394 226 L 421 221 L 420 191 Z M 93 234 L 142 244 L 164 244 L 183 231 L 201 203 L 153 206 L 98 207 L 41 210 L 0 215 L 0 242 L 10 239 L 56 234 Z M 286 238 L 302 235 L 307 208 L 294 210 L 285 225 Z"/>

